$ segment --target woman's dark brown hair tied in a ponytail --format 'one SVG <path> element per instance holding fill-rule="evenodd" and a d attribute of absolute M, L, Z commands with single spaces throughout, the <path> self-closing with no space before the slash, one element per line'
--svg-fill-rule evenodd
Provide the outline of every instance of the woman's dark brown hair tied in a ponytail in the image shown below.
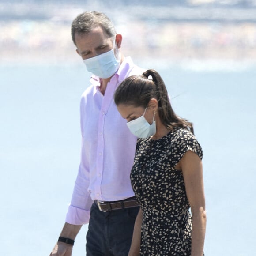
<path fill-rule="evenodd" d="M 151 76 L 152 79 L 149 77 Z M 158 114 L 166 128 L 187 128 L 194 133 L 193 124 L 178 117 L 170 104 L 168 92 L 162 77 L 153 69 L 142 75 L 132 75 L 126 78 L 117 87 L 114 95 L 116 105 L 134 105 L 146 108 L 149 101 L 155 98 L 158 101 Z"/>

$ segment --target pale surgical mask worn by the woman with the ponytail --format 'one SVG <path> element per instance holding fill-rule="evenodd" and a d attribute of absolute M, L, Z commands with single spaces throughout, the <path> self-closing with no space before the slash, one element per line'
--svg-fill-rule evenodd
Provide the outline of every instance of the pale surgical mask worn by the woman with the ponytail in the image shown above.
<path fill-rule="evenodd" d="M 145 109 L 141 117 L 138 117 L 135 120 L 132 120 L 127 123 L 127 126 L 130 132 L 132 132 L 132 134 L 135 135 L 136 137 L 142 138 L 142 139 L 148 138 L 156 133 L 156 124 L 155 124 L 154 116 L 153 116 L 153 123 L 149 124 L 144 117 L 146 110 L 147 109 Z"/>

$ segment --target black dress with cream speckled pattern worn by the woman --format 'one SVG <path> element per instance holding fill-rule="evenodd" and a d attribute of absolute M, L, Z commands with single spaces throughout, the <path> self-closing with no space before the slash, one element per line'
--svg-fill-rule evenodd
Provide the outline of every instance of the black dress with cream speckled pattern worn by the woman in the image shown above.
<path fill-rule="evenodd" d="M 140 255 L 191 255 L 190 206 L 182 172 L 175 169 L 188 150 L 202 159 L 196 137 L 182 128 L 137 141 L 131 181 L 143 210 Z"/>

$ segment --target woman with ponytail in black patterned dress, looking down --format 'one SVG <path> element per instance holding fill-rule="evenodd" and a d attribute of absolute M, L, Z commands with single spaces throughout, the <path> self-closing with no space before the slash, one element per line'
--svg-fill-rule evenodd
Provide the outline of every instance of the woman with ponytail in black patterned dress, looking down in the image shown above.
<path fill-rule="evenodd" d="M 173 112 L 166 86 L 154 70 L 125 79 L 114 100 L 139 137 L 131 182 L 140 211 L 129 256 L 202 256 L 203 152 L 192 123 Z"/>

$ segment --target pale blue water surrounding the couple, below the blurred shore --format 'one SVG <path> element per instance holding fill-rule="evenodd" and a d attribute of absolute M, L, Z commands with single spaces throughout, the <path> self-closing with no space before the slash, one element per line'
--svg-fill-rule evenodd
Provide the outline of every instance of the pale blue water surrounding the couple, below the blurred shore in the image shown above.
<path fill-rule="evenodd" d="M 252 255 L 256 65 L 137 63 L 160 72 L 174 110 L 194 123 L 203 147 L 206 256 Z M 0 66 L 0 255 L 49 255 L 59 236 L 79 165 L 88 78 L 80 63 Z M 86 231 L 74 256 L 85 255 Z"/>

